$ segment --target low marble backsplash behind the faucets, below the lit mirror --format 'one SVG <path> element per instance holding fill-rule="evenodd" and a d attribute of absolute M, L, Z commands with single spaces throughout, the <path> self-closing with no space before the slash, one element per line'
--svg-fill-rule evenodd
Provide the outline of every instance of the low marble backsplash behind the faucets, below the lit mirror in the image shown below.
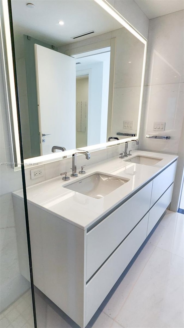
<path fill-rule="evenodd" d="M 134 148 L 132 148 L 132 144 L 135 145 Z M 129 150 L 137 150 L 138 146 L 136 145 L 136 142 L 129 142 L 128 143 L 128 152 Z M 91 154 L 91 158 L 90 160 L 85 159 L 85 156 L 82 155 L 77 155 L 77 171 L 79 171 L 81 169 L 82 165 L 86 165 L 85 166 L 85 171 L 87 173 L 87 167 L 89 165 L 107 160 L 109 158 L 112 157 L 118 157 L 120 153 L 122 153 L 124 151 L 124 144 L 121 145 L 116 145 L 116 146 L 110 146 L 108 148 L 105 149 L 101 149 L 101 150 L 97 150 L 97 151 L 93 151 L 90 152 Z M 41 176 L 40 178 L 37 179 L 31 179 L 31 175 L 30 175 L 30 170 L 33 169 L 33 167 L 28 168 L 25 167 L 25 176 L 26 176 L 26 186 L 31 186 L 34 185 L 36 183 L 54 178 L 56 176 L 59 176 L 62 172 L 67 172 L 68 174 L 71 173 L 71 166 L 72 166 L 72 158 L 64 158 L 55 162 L 51 162 L 51 163 L 47 163 L 44 165 L 39 165 L 36 166 L 34 168 L 39 169 L 40 167 L 44 167 L 44 175 Z"/>

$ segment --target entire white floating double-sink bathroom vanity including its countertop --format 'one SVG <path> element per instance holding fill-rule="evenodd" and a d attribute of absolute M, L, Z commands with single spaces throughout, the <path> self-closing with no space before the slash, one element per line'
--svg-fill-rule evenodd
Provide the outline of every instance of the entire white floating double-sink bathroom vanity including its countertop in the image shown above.
<path fill-rule="evenodd" d="M 27 188 L 34 284 L 80 327 L 87 325 L 170 204 L 176 165 L 175 155 L 134 151 L 128 158 L 89 165 L 84 176 L 66 182 L 59 176 Z M 94 173 L 104 181 L 108 176 L 124 182 L 95 198 L 82 187 L 82 180 L 87 177 L 90 184 Z M 71 186 L 74 181 L 78 191 L 77 184 Z M 22 191 L 13 193 L 13 202 L 20 270 L 28 278 L 21 260 Z"/>

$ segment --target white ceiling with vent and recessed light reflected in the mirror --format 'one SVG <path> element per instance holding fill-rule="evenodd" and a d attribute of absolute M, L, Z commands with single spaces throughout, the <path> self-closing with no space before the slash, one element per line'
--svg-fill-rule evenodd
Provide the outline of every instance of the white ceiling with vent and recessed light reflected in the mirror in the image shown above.
<path fill-rule="evenodd" d="M 122 28 L 122 25 L 93 0 L 11 0 L 13 29 L 18 34 L 30 35 L 55 46 Z M 64 25 L 58 24 L 64 21 Z M 72 39 L 89 31 L 88 36 Z"/>

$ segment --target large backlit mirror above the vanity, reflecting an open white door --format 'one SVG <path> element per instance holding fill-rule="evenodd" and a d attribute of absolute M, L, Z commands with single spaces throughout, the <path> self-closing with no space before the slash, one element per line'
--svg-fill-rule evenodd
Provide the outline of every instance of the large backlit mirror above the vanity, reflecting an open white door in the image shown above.
<path fill-rule="evenodd" d="M 99 3 L 11 0 L 25 159 L 138 138 L 146 40 Z"/>

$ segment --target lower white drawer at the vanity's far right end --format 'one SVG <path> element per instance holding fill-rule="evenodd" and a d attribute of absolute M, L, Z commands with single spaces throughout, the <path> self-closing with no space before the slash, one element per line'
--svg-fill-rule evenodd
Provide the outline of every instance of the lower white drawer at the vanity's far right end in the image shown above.
<path fill-rule="evenodd" d="M 174 183 L 172 183 L 172 185 L 166 190 L 166 192 L 160 197 L 160 199 L 158 199 L 156 204 L 150 210 L 147 236 L 149 235 L 153 227 L 156 225 L 156 222 L 159 220 L 160 216 L 164 213 L 164 211 L 170 204 L 173 194 L 173 186 Z"/>

